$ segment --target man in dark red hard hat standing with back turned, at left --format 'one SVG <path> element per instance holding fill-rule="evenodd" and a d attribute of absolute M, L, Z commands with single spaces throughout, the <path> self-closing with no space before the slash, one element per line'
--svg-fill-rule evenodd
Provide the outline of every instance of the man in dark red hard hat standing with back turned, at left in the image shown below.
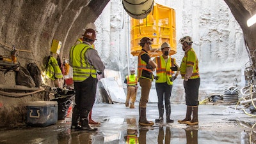
<path fill-rule="evenodd" d="M 88 116 L 92 110 L 96 97 L 97 76 L 105 66 L 97 50 L 92 48 L 96 39 L 93 29 L 86 29 L 83 34 L 83 43 L 74 45 L 70 49 L 70 66 L 73 68 L 74 89 L 76 91 L 75 106 L 72 114 L 71 130 L 97 131 L 90 127 Z M 98 72 L 97 72 L 98 71 Z M 81 128 L 77 119 L 80 118 Z"/>

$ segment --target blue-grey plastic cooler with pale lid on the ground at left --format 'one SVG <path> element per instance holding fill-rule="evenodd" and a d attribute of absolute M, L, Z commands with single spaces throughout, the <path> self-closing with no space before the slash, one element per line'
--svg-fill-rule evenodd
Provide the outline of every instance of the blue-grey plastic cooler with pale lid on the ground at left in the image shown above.
<path fill-rule="evenodd" d="M 57 101 L 31 101 L 27 105 L 27 124 L 46 127 L 58 121 Z"/>

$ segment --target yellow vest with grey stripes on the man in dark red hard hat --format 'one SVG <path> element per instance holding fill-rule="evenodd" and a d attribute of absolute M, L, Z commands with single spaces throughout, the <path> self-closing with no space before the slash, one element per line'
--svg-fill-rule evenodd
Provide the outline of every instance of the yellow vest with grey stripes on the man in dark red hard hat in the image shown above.
<path fill-rule="evenodd" d="M 96 69 L 89 64 L 85 57 L 88 49 L 92 49 L 92 47 L 85 43 L 80 43 L 70 49 L 70 61 L 72 61 L 74 82 L 83 82 L 90 75 L 96 78 Z"/>

